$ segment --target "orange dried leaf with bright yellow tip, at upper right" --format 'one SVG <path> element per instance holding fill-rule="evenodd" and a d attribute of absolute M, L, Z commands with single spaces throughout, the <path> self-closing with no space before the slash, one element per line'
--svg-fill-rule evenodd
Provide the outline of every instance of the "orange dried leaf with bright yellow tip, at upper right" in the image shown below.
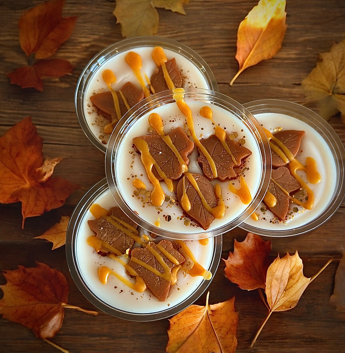
<path fill-rule="evenodd" d="M 240 23 L 235 56 L 240 67 L 230 85 L 247 67 L 272 58 L 280 50 L 287 28 L 285 5 L 285 0 L 260 0 Z"/>

